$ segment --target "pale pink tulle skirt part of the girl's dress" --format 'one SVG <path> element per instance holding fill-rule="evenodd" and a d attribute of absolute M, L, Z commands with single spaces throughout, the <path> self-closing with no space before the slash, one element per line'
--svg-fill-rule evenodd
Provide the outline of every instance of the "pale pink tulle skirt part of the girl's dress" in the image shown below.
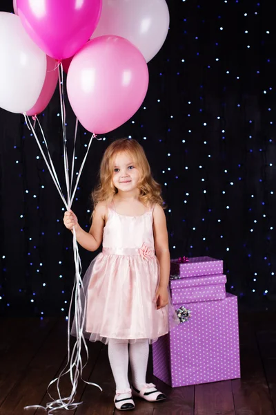
<path fill-rule="evenodd" d="M 140 255 L 101 252 L 83 277 L 81 318 L 85 320 L 85 337 L 105 344 L 109 339 L 118 342 L 147 339 L 152 343 L 168 333 L 169 318 L 175 324 L 178 321 L 170 304 L 157 310 L 158 284 L 157 257 L 145 260 Z M 75 323 L 71 334 L 76 334 Z"/>

